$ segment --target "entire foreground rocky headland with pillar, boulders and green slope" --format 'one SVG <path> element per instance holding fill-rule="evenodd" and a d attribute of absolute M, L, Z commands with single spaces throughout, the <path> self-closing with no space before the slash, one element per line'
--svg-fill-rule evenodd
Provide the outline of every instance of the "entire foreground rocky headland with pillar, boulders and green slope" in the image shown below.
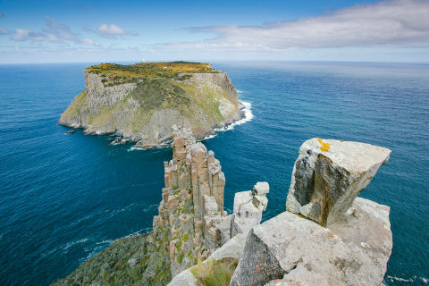
<path fill-rule="evenodd" d="M 358 193 L 391 150 L 309 139 L 299 148 L 286 210 L 261 223 L 267 182 L 223 210 L 225 176 L 191 130 L 173 156 L 153 231 L 116 240 L 57 285 L 380 285 L 391 255 L 389 206 Z M 285 192 L 286 197 L 286 192 Z"/>

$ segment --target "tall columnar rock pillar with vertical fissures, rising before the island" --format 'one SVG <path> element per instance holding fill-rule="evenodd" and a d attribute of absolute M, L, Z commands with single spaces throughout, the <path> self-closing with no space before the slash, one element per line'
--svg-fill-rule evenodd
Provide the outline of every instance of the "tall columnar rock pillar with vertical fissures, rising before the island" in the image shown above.
<path fill-rule="evenodd" d="M 225 177 L 214 153 L 185 128 L 174 128 L 172 151 L 172 160 L 164 163 L 165 188 L 154 232 L 164 233 L 175 275 L 222 246 L 218 225 L 228 218 L 223 211 Z"/>

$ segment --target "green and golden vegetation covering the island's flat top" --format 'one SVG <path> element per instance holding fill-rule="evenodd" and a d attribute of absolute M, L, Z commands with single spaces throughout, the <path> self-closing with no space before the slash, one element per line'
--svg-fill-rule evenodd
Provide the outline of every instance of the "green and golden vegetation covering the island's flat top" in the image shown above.
<path fill-rule="evenodd" d="M 169 62 L 169 63 L 136 63 L 130 65 L 101 63 L 88 67 L 89 72 L 103 78 L 105 86 L 122 83 L 138 83 L 140 80 L 174 79 L 187 80 L 189 75 L 181 73 L 219 72 L 210 63 Z"/>

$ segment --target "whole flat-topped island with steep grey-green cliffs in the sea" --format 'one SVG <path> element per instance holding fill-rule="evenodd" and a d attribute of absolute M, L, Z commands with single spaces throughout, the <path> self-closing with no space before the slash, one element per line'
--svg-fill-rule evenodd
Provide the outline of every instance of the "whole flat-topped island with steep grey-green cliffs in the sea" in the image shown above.
<path fill-rule="evenodd" d="M 85 89 L 59 124 L 88 134 L 115 133 L 156 147 L 172 139 L 172 125 L 198 139 L 244 116 L 226 72 L 209 63 L 103 63 L 84 71 Z"/>

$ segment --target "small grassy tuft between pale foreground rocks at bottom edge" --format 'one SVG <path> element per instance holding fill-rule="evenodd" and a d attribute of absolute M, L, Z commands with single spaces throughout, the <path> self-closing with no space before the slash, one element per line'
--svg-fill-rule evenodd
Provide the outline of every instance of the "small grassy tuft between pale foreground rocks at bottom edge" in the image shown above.
<path fill-rule="evenodd" d="M 206 263 L 190 268 L 190 272 L 197 278 L 200 286 L 228 286 L 232 274 L 237 267 L 237 260 L 223 259 L 221 261 L 209 260 Z"/>

